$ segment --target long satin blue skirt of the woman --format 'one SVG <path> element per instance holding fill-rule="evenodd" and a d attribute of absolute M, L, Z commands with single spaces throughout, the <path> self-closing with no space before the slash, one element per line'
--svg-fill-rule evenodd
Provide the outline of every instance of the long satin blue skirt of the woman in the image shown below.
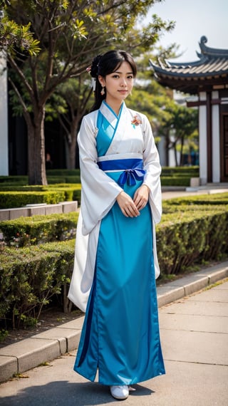
<path fill-rule="evenodd" d="M 120 172 L 108 173 L 118 182 Z M 142 184 L 124 185 L 133 197 Z M 165 373 L 157 315 L 150 205 L 125 217 L 115 202 L 100 224 L 95 276 L 74 370 L 103 385 Z"/>

